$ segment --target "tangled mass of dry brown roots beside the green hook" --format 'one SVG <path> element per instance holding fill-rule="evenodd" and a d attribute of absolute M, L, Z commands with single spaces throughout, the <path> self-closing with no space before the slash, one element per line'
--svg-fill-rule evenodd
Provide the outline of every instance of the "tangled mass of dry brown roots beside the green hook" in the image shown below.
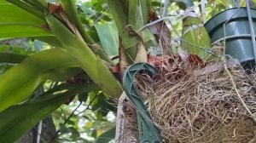
<path fill-rule="evenodd" d="M 255 73 L 246 75 L 240 66 L 233 65 L 196 74 L 186 63 L 174 71 L 161 72 L 153 79 L 141 75 L 136 80 L 137 90 L 166 142 L 255 140 L 252 115 L 256 112 L 256 93 L 251 84 L 256 81 Z"/>

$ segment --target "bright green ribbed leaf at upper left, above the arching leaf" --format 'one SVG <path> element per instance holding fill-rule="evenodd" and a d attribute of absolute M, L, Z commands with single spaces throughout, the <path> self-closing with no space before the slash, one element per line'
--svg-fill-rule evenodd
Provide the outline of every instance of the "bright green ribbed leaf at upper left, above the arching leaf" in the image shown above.
<path fill-rule="evenodd" d="M 54 36 L 46 22 L 9 3 L 0 3 L 0 39 Z"/>

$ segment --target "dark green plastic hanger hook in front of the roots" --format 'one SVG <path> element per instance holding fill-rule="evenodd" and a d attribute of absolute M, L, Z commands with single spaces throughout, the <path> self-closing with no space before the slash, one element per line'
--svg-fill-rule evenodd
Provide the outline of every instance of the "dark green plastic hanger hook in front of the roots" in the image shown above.
<path fill-rule="evenodd" d="M 131 102 L 137 107 L 137 126 L 139 131 L 140 143 L 161 143 L 162 137 L 160 130 L 154 126 L 152 117 L 148 113 L 146 106 L 141 97 L 137 94 L 133 84 L 134 77 L 137 73 L 146 73 L 150 77 L 158 74 L 157 70 L 147 63 L 136 63 L 130 66 L 124 74 L 123 85 L 125 93 Z"/>

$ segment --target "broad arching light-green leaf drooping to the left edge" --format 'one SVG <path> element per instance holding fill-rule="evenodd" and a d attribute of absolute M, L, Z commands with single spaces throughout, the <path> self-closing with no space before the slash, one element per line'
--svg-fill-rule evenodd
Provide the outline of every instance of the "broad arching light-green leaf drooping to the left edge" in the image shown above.
<path fill-rule="evenodd" d="M 78 72 L 75 60 L 61 49 L 32 54 L 0 75 L 0 112 L 25 100 L 45 80 L 63 80 Z M 20 92 L 22 91 L 22 92 Z"/>

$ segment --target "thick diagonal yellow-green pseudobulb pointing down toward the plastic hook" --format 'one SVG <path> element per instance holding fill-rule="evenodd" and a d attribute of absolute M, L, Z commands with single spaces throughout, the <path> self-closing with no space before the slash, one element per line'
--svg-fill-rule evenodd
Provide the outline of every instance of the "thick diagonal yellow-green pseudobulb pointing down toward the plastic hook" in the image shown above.
<path fill-rule="evenodd" d="M 118 97 L 121 93 L 118 81 L 102 60 L 84 43 L 84 40 L 79 35 L 74 35 L 69 31 L 53 15 L 48 14 L 46 20 L 55 36 L 63 43 L 61 48 L 67 50 L 67 53 L 78 61 L 79 66 L 102 90 L 110 96 Z"/>

